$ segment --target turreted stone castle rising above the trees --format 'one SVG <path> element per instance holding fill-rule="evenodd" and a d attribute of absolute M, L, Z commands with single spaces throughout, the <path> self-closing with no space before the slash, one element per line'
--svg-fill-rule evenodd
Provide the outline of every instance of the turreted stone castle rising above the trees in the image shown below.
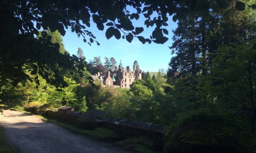
<path fill-rule="evenodd" d="M 122 65 L 115 67 L 115 70 L 108 70 L 105 77 L 99 74 L 92 75 L 93 80 L 101 80 L 104 86 L 109 87 L 121 87 L 130 88 L 130 85 L 135 81 L 142 79 L 142 70 L 136 70 L 136 66 L 133 66 L 133 70 L 127 66 L 122 68 Z"/>

